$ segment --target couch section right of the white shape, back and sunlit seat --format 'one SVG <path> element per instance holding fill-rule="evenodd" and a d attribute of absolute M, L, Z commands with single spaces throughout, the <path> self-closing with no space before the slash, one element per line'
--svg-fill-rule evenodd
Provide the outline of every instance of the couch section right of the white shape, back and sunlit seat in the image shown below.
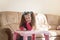
<path fill-rule="evenodd" d="M 50 40 L 60 40 L 60 16 L 53 14 L 45 14 L 48 24 L 51 26 L 49 29 L 50 32 Z"/>

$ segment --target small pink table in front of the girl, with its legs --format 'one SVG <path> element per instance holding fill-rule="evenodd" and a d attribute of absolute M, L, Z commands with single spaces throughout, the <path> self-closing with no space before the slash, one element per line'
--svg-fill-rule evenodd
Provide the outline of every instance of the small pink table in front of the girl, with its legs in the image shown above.
<path fill-rule="evenodd" d="M 43 31 L 43 32 L 38 32 L 38 31 L 15 31 L 13 34 L 13 40 L 16 40 L 17 33 L 19 33 L 21 36 L 23 36 L 23 40 L 27 40 L 27 36 L 32 36 L 32 34 L 44 34 L 45 40 L 49 40 L 49 32 Z M 36 37 L 36 36 L 35 36 Z M 36 40 L 36 38 L 35 38 Z"/>

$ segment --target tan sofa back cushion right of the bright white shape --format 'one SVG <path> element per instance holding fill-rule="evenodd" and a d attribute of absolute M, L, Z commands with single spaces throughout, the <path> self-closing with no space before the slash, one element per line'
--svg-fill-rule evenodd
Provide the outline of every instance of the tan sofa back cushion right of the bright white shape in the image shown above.
<path fill-rule="evenodd" d="M 45 14 L 50 25 L 58 25 L 59 16 L 52 14 Z"/>

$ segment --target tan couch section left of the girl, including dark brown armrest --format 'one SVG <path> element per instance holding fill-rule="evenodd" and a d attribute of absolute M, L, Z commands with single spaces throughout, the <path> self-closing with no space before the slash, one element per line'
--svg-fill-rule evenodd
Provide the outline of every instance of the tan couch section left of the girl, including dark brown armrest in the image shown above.
<path fill-rule="evenodd" d="M 0 40 L 13 40 L 13 32 L 19 29 L 21 13 L 0 12 Z"/>

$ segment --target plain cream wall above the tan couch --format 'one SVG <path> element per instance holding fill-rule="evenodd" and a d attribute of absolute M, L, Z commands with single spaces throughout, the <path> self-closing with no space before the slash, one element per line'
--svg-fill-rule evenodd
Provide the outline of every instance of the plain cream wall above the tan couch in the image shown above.
<path fill-rule="evenodd" d="M 34 11 L 60 15 L 60 0 L 0 0 L 0 11 Z"/>

